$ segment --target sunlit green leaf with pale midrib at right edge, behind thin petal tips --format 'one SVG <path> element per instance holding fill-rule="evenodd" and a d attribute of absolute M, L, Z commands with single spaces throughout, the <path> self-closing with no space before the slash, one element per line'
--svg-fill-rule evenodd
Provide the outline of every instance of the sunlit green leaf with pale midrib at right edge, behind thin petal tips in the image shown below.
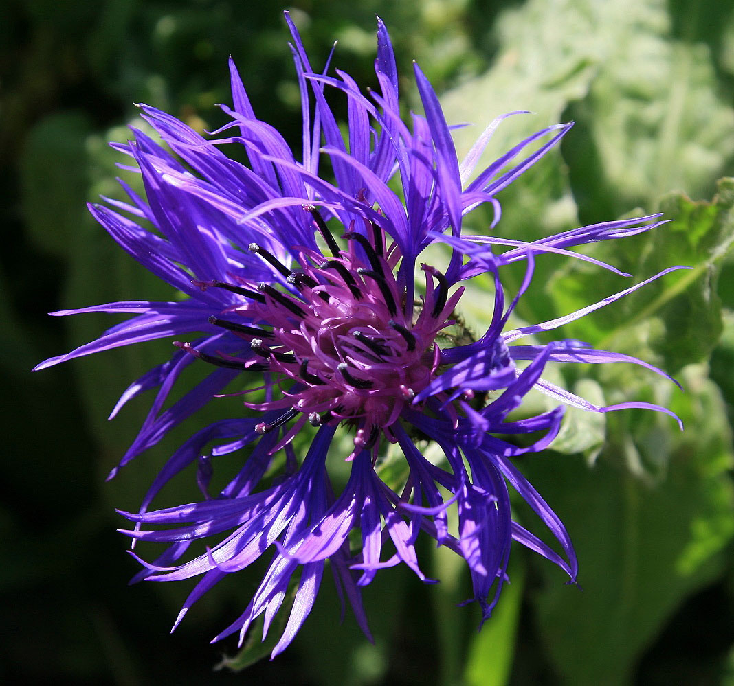
<path fill-rule="evenodd" d="M 707 360 L 722 332 L 716 283 L 734 242 L 734 180 L 719 181 L 711 202 L 682 193 L 661 201 L 672 222 L 636 238 L 595 244 L 586 252 L 614 263 L 642 280 L 670 266 L 689 271 L 652 282 L 622 301 L 564 328 L 564 335 L 598 348 L 633 354 L 669 373 Z M 556 311 L 573 312 L 628 288 L 610 272 L 572 263 L 549 284 Z"/>

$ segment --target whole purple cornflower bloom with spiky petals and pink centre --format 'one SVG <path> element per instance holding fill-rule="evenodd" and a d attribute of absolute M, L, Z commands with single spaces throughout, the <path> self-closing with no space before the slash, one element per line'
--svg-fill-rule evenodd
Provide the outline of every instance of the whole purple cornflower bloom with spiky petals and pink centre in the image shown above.
<path fill-rule="evenodd" d="M 643 407 L 672 414 L 646 403 L 595 406 L 541 376 L 548 362 L 633 362 L 666 376 L 645 362 L 575 340 L 516 344 L 670 270 L 562 318 L 506 330 L 541 253 L 573 255 L 621 273 L 569 249 L 654 229 L 663 223 L 658 215 L 529 243 L 462 234 L 462 217 L 484 203 L 493 208 L 494 227 L 501 214 L 498 192 L 556 145 L 570 124 L 539 131 L 477 174 L 479 157 L 504 117 L 459 162 L 435 92 L 417 65 L 425 115 L 413 114 L 410 125 L 401 120 L 396 63 L 382 22 L 375 65 L 380 92 L 366 96 L 340 70 L 336 76 L 314 71 L 287 14 L 286 21 L 302 97 L 300 161 L 277 131 L 255 117 L 233 64 L 234 106 L 222 106 L 231 121 L 214 132 L 217 139 L 203 139 L 174 117 L 140 106 L 175 155 L 134 131 L 134 141 L 118 148 L 141 174 L 145 199 L 123 183 L 128 202 L 108 200 L 90 211 L 120 247 L 183 297 L 54 313 L 134 316 L 38 367 L 145 340 L 195 337 L 176 341 L 171 359 L 131 384 L 113 410 L 114 416 L 131 398 L 158 389 L 120 466 L 236 382 L 236 398 L 217 400 L 233 416 L 176 451 L 139 511 L 123 513 L 135 522 L 124 533 L 166 546 L 156 561 L 142 563 L 137 578 L 198 577 L 176 624 L 209 588 L 270 555 L 250 605 L 217 638 L 233 632 L 244 638 L 261 614 L 267 632 L 291 588 L 294 599 L 285 610 L 290 616 L 274 656 L 313 607 L 327 560 L 368 634 L 360 588 L 378 569 L 404 563 L 427 581 L 415 551 L 421 530 L 465 559 L 482 619 L 490 616 L 506 580 L 513 539 L 575 581 L 578 565 L 566 528 L 513 458 L 550 445 L 564 404 L 592 412 Z M 346 135 L 327 103 L 333 90 L 347 98 Z M 225 156 L 224 143 L 239 145 L 249 164 Z M 440 268 L 420 262 L 434 243 L 446 244 Z M 526 261 L 526 277 L 508 303 L 500 271 L 519 260 Z M 489 328 L 476 340 L 448 347 L 446 329 L 461 310 L 462 282 L 487 273 L 495 284 L 487 303 L 493 308 Z M 522 371 L 519 360 L 528 362 Z M 212 371 L 163 409 L 178 376 L 192 364 Z M 562 405 L 538 416 L 509 416 L 533 387 Z M 348 433 L 354 448 L 327 457 L 337 431 Z M 310 436 L 305 456 L 293 448 L 294 437 L 303 433 Z M 523 447 L 495 435 L 531 433 L 541 438 L 520 442 Z M 445 459 L 426 459 L 416 436 L 435 442 Z M 212 442 L 217 445 L 206 453 Z M 399 485 L 385 483 L 376 469 L 389 444 L 401 450 L 407 466 Z M 241 469 L 210 495 L 214 465 L 232 453 L 241 456 Z M 338 459 L 351 462 L 341 492 L 330 481 L 330 462 Z M 164 484 L 192 464 L 203 500 L 151 510 Z M 539 515 L 561 552 L 512 520 L 508 485 Z M 458 525 L 450 527 L 451 508 Z M 186 555 L 199 539 L 206 550 Z"/>

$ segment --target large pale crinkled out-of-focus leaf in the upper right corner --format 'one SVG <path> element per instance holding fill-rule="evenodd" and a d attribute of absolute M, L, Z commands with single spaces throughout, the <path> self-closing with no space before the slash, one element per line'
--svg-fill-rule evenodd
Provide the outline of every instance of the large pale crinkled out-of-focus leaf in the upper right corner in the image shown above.
<path fill-rule="evenodd" d="M 653 208 L 676 186 L 710 194 L 733 158 L 734 110 L 718 95 L 707 48 L 672 40 L 663 1 L 531 0 L 504 12 L 495 34 L 490 70 L 442 98 L 449 123 L 474 124 L 454 133 L 459 156 L 498 114 L 535 113 L 504 121 L 487 158 L 545 125 L 577 120 L 562 145 L 569 169 L 559 169 L 551 153 L 502 191 L 495 233 L 534 240 L 637 204 Z M 491 219 L 478 211 L 467 223 L 486 232 Z M 539 258 L 536 282 L 546 282 L 558 264 Z M 509 271 L 504 283 L 513 288 L 521 274 Z M 517 314 L 542 321 L 552 307 L 541 294 L 523 298 Z"/>

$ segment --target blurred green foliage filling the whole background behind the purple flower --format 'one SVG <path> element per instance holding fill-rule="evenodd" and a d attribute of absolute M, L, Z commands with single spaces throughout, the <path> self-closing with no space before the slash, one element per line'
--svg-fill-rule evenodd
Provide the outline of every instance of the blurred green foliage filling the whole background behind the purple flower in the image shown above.
<path fill-rule="evenodd" d="M 299 101 L 281 7 L 221 0 L 19 0 L 0 25 L 0 413 L 5 560 L 0 679 L 8 683 L 721 684 L 734 669 L 734 6 L 704 0 L 311 0 L 290 7 L 313 64 L 374 85 L 374 14 L 396 45 L 401 87 L 417 106 L 411 61 L 434 82 L 459 154 L 498 114 L 529 109 L 495 134 L 487 155 L 531 131 L 575 128 L 501 196 L 498 230 L 534 239 L 634 208 L 664 211 L 657 231 L 586 247 L 634 274 L 691 266 L 564 332 L 675 374 L 686 393 L 631 365 L 552 373 L 600 404 L 666 404 L 686 423 L 627 411 L 571 410 L 553 450 L 520 466 L 575 541 L 584 591 L 516 550 L 512 585 L 476 632 L 454 556 L 424 545 L 439 586 L 386 570 L 367 589 L 375 643 L 347 618 L 328 580 L 294 646 L 244 674 L 211 668 L 235 646 L 208 646 L 255 588 L 257 569 L 208 594 L 172 637 L 188 589 L 126 588 L 137 569 L 113 533 L 112 508 L 134 507 L 192 423 L 106 472 L 147 407 L 106 415 L 132 379 L 170 352 L 123 349 L 29 375 L 90 340 L 109 318 L 50 319 L 49 310 L 167 298 L 103 235 L 84 203 L 117 194 L 133 103 L 167 109 L 199 130 L 228 102 L 232 55 L 255 112 L 298 145 Z M 139 122 L 136 125 L 140 125 Z M 691 200 L 693 198 L 693 200 Z M 473 218 L 482 231 L 490 218 Z M 509 288 L 522 278 L 507 275 Z M 517 309 L 545 321 L 628 288 L 629 281 L 546 255 Z M 482 284 L 478 285 L 482 289 Z M 480 293 L 481 295 L 481 293 Z M 479 326 L 481 311 L 467 313 Z M 580 391 L 581 392 L 581 391 Z M 538 404 L 546 398 L 537 398 Z M 216 413 L 217 407 L 211 408 Z M 211 417 L 200 417 L 204 423 Z M 430 448 L 426 448 L 429 450 Z M 393 464 L 392 468 L 395 468 Z M 172 502 L 195 497 L 182 479 Z M 517 503 L 517 516 L 535 522 Z"/>

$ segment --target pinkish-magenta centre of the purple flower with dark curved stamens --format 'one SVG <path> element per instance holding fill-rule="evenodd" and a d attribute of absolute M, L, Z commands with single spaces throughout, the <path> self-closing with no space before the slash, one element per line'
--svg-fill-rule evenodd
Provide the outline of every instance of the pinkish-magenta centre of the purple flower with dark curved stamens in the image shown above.
<path fill-rule="evenodd" d="M 405 287 L 395 277 L 401 259 L 396 244 L 385 249 L 382 233 L 374 227 L 371 238 L 346 233 L 348 248 L 340 250 L 316 210 L 311 213 L 333 257 L 302 249 L 302 269 L 294 271 L 250 244 L 283 277 L 282 289 L 239 279 L 237 285 L 199 285 L 247 297 L 241 307 L 222 313 L 227 319 L 209 321 L 249 343 L 255 358 L 239 362 L 241 368 L 276 375 L 279 397 L 269 393 L 264 401 L 246 403 L 261 411 L 284 411 L 274 422 L 258 425 L 258 431 L 265 433 L 301 415 L 290 434 L 306 419 L 313 426 L 346 421 L 357 426 L 356 445 L 371 445 L 435 379 L 435 337 L 451 324 L 448 317 L 461 293 L 449 298 L 446 277 L 423 265 L 426 296 L 418 307 L 407 307 Z M 232 321 L 238 316 L 248 324 Z M 233 368 L 238 364 L 235 358 L 215 359 L 187 349 L 209 362 Z M 286 379 L 292 383 L 284 384 Z"/>

